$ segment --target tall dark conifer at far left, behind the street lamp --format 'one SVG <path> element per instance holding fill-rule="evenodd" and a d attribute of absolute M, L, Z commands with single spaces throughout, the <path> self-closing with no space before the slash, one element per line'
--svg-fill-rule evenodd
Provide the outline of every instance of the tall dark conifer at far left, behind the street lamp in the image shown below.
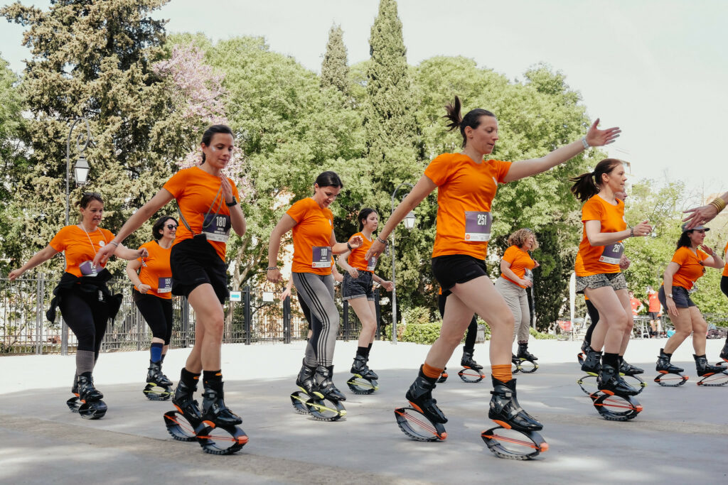
<path fill-rule="evenodd" d="M 168 86 L 151 72 L 165 41 L 164 21 L 151 12 L 166 1 L 64 0 L 52 2 L 48 11 L 16 2 L 0 10 L 27 28 L 24 45 L 32 55 L 22 84 L 32 114 L 24 140 L 32 169 L 15 192 L 23 201 L 19 216 L 28 252 L 45 246 L 63 225 L 66 137 L 77 116 L 90 121 L 91 172 L 89 185 L 75 188 L 71 201 L 82 190 L 102 193 L 103 226 L 111 231 L 159 189 L 171 174 L 171 162 L 189 150 L 188 143 L 168 136 L 163 123 Z M 149 231 L 127 244 L 146 239 Z"/>

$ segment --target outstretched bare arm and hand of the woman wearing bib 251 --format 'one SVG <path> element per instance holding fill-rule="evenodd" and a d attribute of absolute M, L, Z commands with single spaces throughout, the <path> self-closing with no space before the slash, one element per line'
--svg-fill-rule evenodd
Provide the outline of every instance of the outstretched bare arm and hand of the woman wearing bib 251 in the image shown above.
<path fill-rule="evenodd" d="M 617 137 L 620 136 L 620 132 L 622 132 L 622 130 L 617 127 L 598 129 L 598 124 L 599 119 L 596 119 L 589 128 L 587 135 L 581 140 L 556 148 L 554 151 L 542 156 L 540 159 L 523 160 L 511 165 L 507 175 L 505 176 L 505 182 L 513 182 L 513 180 L 519 180 L 523 177 L 529 177 L 530 175 L 546 172 L 548 169 L 563 164 L 563 162 L 569 159 L 573 159 L 589 147 L 604 146 L 609 145 L 609 143 L 614 143 L 614 140 L 616 140 Z"/>

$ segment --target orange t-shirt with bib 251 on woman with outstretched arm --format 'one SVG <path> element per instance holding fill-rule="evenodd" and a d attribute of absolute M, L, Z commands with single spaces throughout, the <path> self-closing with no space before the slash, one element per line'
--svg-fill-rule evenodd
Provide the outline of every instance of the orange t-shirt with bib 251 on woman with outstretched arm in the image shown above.
<path fill-rule="evenodd" d="M 490 239 L 491 202 L 503 183 L 510 161 L 476 164 L 462 153 L 443 153 L 424 175 L 438 186 L 438 225 L 432 257 L 467 254 L 485 260 Z"/>

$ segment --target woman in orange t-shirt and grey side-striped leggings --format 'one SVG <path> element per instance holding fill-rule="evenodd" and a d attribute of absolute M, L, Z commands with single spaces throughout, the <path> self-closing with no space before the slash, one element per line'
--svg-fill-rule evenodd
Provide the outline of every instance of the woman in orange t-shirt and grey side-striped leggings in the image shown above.
<path fill-rule="evenodd" d="M 336 242 L 333 213 L 328 207 L 344 183 L 336 172 L 323 172 L 314 182 L 314 195 L 297 201 L 278 221 L 268 245 L 268 281 L 279 282 L 278 252 L 285 233 L 293 231 L 293 284 L 312 313 L 312 335 L 306 345 L 296 385 L 306 394 L 320 393 L 332 401 L 346 396 L 333 384 L 333 351 L 339 331 L 339 309 L 333 301 L 331 254 L 342 254 L 362 245 L 361 236 Z"/>

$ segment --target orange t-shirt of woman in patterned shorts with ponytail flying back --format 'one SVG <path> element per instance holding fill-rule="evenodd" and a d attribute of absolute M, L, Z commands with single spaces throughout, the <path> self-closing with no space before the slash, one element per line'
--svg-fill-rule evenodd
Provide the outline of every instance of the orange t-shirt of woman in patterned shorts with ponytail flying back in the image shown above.
<path fill-rule="evenodd" d="M 618 233 L 627 228 L 625 203 L 617 199 L 617 205 L 609 204 L 600 196 L 593 196 L 582 206 L 582 242 L 574 270 L 577 276 L 603 273 L 620 273 L 620 257 L 624 252 L 622 241 L 607 246 L 592 246 L 587 238 L 587 220 L 598 220 L 602 233 Z"/>

